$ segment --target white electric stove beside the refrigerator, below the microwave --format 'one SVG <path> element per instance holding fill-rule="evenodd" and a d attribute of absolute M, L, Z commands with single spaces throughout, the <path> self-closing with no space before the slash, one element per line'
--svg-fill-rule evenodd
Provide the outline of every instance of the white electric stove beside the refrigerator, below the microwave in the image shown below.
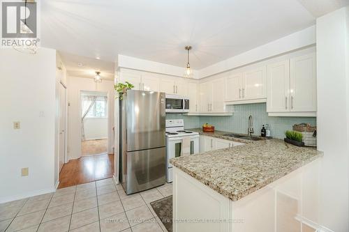
<path fill-rule="evenodd" d="M 199 153 L 199 133 L 184 130 L 184 120 L 166 120 L 166 181 L 172 182 L 170 159 Z"/>

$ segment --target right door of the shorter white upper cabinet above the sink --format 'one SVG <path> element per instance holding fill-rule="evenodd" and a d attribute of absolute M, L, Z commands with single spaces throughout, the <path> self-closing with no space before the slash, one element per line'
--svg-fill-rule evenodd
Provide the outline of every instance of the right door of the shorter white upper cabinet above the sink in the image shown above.
<path fill-rule="evenodd" d="M 267 98 L 267 67 L 244 72 L 242 95 L 244 100 Z"/>

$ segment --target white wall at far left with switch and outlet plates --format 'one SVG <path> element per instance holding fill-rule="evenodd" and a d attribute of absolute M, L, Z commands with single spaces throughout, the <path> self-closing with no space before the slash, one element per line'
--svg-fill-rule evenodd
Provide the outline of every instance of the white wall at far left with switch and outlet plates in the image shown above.
<path fill-rule="evenodd" d="M 54 191 L 56 51 L 0 51 L 0 203 Z M 20 121 L 20 130 L 13 122 Z M 29 176 L 21 169 L 29 167 Z"/>

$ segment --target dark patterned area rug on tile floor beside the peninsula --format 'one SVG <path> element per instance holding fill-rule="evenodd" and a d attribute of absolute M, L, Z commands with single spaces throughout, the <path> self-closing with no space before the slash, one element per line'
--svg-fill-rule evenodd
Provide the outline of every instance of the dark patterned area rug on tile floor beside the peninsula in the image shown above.
<path fill-rule="evenodd" d="M 172 196 L 150 203 L 168 232 L 172 232 Z"/>

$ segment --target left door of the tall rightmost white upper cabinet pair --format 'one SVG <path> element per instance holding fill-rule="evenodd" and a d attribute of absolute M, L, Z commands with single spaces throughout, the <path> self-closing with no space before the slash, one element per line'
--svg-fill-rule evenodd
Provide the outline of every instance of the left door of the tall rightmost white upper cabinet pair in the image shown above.
<path fill-rule="evenodd" d="M 282 61 L 267 66 L 267 111 L 290 111 L 290 64 Z"/>

